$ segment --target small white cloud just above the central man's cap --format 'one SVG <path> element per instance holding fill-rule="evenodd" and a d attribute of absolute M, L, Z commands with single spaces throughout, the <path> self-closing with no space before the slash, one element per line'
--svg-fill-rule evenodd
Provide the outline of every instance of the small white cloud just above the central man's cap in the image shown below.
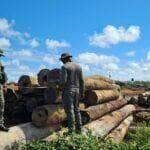
<path fill-rule="evenodd" d="M 67 43 L 66 41 L 57 41 L 57 40 L 53 40 L 53 39 L 46 39 L 45 44 L 48 49 L 52 49 L 52 50 L 66 48 L 66 47 L 70 46 L 70 44 Z"/>

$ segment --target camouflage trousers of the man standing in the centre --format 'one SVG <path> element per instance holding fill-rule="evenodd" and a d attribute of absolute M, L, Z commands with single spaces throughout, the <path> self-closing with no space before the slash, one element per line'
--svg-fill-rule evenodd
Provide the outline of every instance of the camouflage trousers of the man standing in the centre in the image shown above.
<path fill-rule="evenodd" d="M 81 130 L 82 120 L 79 109 L 79 89 L 64 90 L 62 101 L 67 114 L 67 125 L 69 130 Z"/>

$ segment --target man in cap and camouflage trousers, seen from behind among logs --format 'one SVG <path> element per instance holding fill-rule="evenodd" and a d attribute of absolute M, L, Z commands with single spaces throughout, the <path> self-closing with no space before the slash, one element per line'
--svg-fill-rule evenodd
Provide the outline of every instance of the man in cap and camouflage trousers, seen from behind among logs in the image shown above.
<path fill-rule="evenodd" d="M 82 69 L 71 58 L 72 56 L 68 53 L 63 53 L 60 58 L 64 64 L 61 68 L 63 86 L 62 101 L 67 114 L 69 131 L 76 129 L 80 132 L 82 120 L 79 110 L 79 99 L 83 97 L 84 80 Z"/>

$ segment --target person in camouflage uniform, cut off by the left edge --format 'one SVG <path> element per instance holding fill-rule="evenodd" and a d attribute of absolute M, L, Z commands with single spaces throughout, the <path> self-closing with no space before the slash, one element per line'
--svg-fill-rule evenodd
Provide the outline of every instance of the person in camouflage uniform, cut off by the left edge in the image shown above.
<path fill-rule="evenodd" d="M 3 51 L 0 49 L 0 57 L 4 56 Z M 8 128 L 4 126 L 4 94 L 3 85 L 7 80 L 6 74 L 4 72 L 4 66 L 0 63 L 0 130 L 8 131 Z"/>

